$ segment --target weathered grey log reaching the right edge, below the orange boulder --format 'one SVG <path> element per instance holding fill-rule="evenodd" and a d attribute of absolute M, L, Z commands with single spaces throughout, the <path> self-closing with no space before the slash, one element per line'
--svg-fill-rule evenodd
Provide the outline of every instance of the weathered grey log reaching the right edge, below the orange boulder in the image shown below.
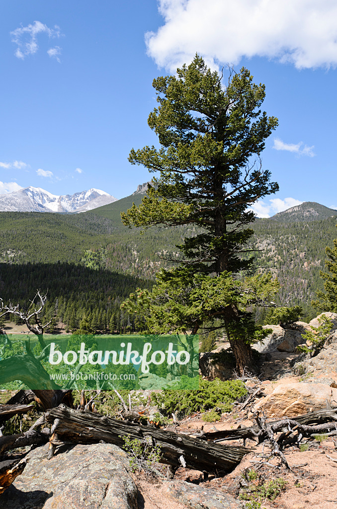
<path fill-rule="evenodd" d="M 272 431 L 279 431 L 288 427 L 288 423 L 292 426 L 298 426 L 298 429 L 304 436 L 310 436 L 312 433 L 322 433 L 329 428 L 333 429 L 333 422 L 337 421 L 337 408 L 331 410 L 318 410 L 316 412 L 309 412 L 297 417 L 277 419 L 269 421 L 268 425 L 271 426 Z M 240 438 L 254 438 L 260 435 L 260 440 L 265 438 L 265 435 L 260 434 L 258 426 L 251 426 L 249 428 L 242 427 L 236 430 L 221 430 L 215 432 L 202 432 L 199 437 L 206 440 L 222 441 L 222 440 L 239 440 Z"/>

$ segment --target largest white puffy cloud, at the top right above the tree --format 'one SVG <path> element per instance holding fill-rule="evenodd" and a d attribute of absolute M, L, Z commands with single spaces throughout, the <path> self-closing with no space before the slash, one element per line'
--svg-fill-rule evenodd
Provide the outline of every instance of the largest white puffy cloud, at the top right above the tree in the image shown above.
<path fill-rule="evenodd" d="M 158 0 L 163 26 L 147 32 L 148 55 L 175 72 L 195 52 L 208 65 L 266 56 L 296 68 L 337 65 L 334 0 Z"/>

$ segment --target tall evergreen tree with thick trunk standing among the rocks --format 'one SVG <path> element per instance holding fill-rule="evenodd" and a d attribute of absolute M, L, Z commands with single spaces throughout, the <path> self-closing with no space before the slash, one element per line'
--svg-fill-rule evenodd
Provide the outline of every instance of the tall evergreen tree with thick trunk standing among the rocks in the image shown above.
<path fill-rule="evenodd" d="M 221 76 L 198 55 L 177 76 L 155 79 L 153 87 L 159 106 L 148 124 L 161 147 L 132 149 L 129 161 L 160 172 L 160 178 L 122 220 L 143 230 L 189 225 L 197 233 L 177 246 L 179 267 L 161 271 L 153 293 L 132 294 L 128 306 L 134 299 L 147 305 L 148 324 L 156 331 L 164 331 L 165 323 L 167 330 L 195 334 L 205 322 L 221 319 L 238 370 L 256 371 L 249 343 L 264 332 L 246 312 L 235 279 L 252 266 L 246 246 L 253 234 L 249 206 L 278 190 L 260 159 L 277 119 L 261 113 L 265 87 L 253 83 L 247 69 L 232 73 L 223 87 Z"/>

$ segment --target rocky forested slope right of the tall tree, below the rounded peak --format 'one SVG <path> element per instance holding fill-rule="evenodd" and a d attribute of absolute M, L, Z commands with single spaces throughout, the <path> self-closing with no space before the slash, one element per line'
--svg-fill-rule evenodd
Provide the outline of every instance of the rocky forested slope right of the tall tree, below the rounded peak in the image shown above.
<path fill-rule="evenodd" d="M 307 222 L 255 221 L 253 247 L 261 249 L 256 268 L 277 276 L 279 303 L 310 308 L 316 290 L 323 289 L 320 270 L 324 270 L 325 247 L 337 237 L 336 222 L 336 216 Z"/>

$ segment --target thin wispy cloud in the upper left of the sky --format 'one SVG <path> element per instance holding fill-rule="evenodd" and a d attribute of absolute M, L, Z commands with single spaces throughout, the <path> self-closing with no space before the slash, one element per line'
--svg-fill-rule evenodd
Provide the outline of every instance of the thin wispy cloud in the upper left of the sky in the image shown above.
<path fill-rule="evenodd" d="M 34 55 L 38 51 L 38 34 L 46 34 L 49 38 L 59 38 L 62 35 L 58 25 L 54 25 L 53 29 L 50 29 L 46 24 L 41 23 L 41 21 L 34 21 L 33 24 L 20 26 L 11 32 L 12 42 L 17 45 L 14 54 L 18 59 L 24 60 L 25 56 Z M 49 56 L 54 56 L 60 62 L 58 58 L 58 55 L 61 54 L 60 46 L 48 49 L 47 53 Z"/>

